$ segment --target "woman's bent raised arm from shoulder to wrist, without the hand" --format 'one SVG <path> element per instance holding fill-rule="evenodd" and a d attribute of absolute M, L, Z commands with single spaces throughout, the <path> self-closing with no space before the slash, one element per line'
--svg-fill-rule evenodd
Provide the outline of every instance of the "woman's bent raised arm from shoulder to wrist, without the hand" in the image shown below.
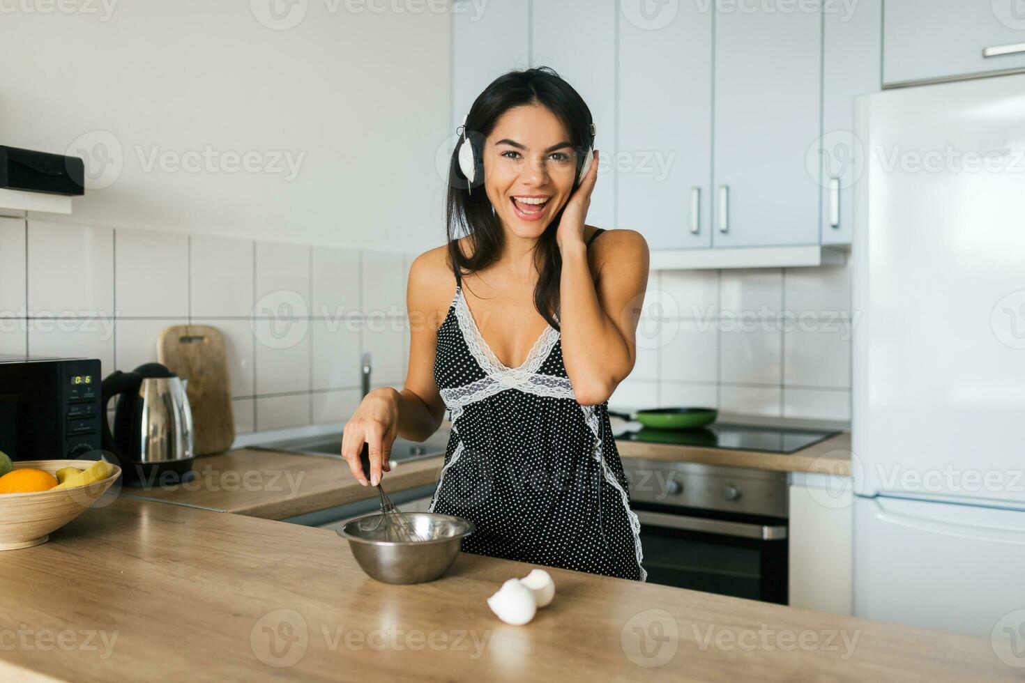
<path fill-rule="evenodd" d="M 590 250 L 593 272 L 583 240 L 563 241 L 563 361 L 581 405 L 607 400 L 633 370 L 648 287 L 648 244 L 640 232 L 608 230 Z"/>

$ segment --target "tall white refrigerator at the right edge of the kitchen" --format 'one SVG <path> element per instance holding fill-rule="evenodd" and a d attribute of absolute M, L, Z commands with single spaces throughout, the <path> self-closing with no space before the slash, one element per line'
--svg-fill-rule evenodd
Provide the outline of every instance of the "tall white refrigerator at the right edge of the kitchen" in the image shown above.
<path fill-rule="evenodd" d="M 855 613 L 1025 636 L 1025 75 L 855 110 Z"/>

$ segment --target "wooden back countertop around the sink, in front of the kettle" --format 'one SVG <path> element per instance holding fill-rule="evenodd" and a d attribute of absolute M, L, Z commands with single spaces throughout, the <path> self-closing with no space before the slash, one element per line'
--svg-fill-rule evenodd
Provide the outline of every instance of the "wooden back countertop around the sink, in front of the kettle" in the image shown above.
<path fill-rule="evenodd" d="M 435 483 L 442 460 L 436 456 L 397 463 L 385 474 L 385 490 Z M 192 481 L 148 488 L 126 486 L 122 494 L 264 519 L 285 519 L 377 496 L 373 487 L 361 486 L 353 478 L 340 458 L 238 449 L 198 458 L 194 470 Z"/>

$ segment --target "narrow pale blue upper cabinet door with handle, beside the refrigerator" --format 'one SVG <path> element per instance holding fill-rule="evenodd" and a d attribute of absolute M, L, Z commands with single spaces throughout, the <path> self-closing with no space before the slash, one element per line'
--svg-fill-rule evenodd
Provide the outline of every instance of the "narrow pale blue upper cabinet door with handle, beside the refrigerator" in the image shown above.
<path fill-rule="evenodd" d="M 820 165 L 821 241 L 851 244 L 851 187 L 865 161 L 854 136 L 854 98 L 883 87 L 883 0 L 861 0 L 850 15 L 837 6 L 822 18 L 822 137 L 811 158 Z"/>

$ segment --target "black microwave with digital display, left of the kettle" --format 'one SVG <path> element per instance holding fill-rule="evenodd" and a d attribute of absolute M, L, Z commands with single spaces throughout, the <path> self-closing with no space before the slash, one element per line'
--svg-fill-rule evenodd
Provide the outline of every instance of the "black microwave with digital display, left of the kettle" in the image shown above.
<path fill-rule="evenodd" d="M 0 354 L 0 451 L 73 460 L 98 451 L 99 360 Z"/>

